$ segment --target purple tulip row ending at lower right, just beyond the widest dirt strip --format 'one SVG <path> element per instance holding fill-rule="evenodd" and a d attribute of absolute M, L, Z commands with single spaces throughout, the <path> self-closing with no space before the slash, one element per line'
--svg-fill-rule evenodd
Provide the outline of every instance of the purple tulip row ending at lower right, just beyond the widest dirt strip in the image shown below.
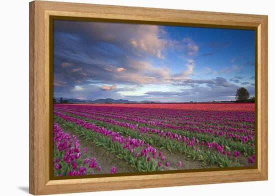
<path fill-rule="evenodd" d="M 179 135 L 158 135 L 158 134 L 148 134 L 133 131 L 125 127 L 119 127 L 113 124 L 107 124 L 104 122 L 96 122 L 94 120 L 87 120 L 79 116 L 73 116 L 72 114 L 66 114 L 75 119 L 81 119 L 83 121 L 92 122 L 97 126 L 104 127 L 106 129 L 115 130 L 122 135 L 127 135 L 135 138 L 143 139 L 149 144 L 155 145 L 157 147 L 166 148 L 170 152 L 180 152 L 186 156 L 192 157 L 202 161 L 203 163 L 217 164 L 221 167 L 230 166 L 232 162 L 230 157 L 230 148 L 222 144 L 218 144 L 215 141 L 212 142 L 200 142 L 196 138 L 187 138 Z M 174 137 L 174 139 L 172 139 Z M 170 138 L 170 139 L 168 139 Z M 232 155 L 231 155 L 232 156 Z M 234 165 L 233 165 L 234 166 Z"/>

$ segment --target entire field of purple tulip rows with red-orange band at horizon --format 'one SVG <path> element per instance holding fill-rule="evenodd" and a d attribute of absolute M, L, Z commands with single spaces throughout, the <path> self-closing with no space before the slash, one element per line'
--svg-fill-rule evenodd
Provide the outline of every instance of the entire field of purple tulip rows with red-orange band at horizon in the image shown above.
<path fill-rule="evenodd" d="M 54 104 L 54 176 L 252 166 L 253 103 Z"/>

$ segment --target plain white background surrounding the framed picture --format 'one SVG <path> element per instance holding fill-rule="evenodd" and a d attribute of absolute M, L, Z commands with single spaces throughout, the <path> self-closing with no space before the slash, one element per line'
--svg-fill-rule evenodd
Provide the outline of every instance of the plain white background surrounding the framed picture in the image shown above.
<path fill-rule="evenodd" d="M 61 1 L 61 0 L 59 0 Z M 74 0 L 66 2 L 268 15 L 269 180 L 211 185 L 103 191 L 70 195 L 270 195 L 274 173 L 274 7 L 272 1 Z M 28 1 L 0 2 L 0 181 L 1 195 L 28 194 Z M 273 120 L 273 121 L 272 121 Z M 16 177 L 14 177 L 16 175 Z M 69 194 L 67 194 L 69 195 Z"/>

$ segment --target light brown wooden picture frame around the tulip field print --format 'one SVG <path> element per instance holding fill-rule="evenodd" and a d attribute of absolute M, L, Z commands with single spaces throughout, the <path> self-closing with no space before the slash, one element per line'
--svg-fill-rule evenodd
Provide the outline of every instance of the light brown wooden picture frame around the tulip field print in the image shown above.
<path fill-rule="evenodd" d="M 50 16 L 256 30 L 257 162 L 252 169 L 52 180 Z M 34 1 L 29 3 L 29 192 L 51 194 L 267 180 L 267 16 Z"/>

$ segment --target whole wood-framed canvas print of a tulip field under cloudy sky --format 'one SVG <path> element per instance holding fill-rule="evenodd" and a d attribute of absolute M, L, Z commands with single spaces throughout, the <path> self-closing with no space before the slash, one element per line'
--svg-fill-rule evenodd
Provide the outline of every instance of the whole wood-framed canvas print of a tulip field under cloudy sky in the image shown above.
<path fill-rule="evenodd" d="M 30 193 L 267 180 L 267 16 L 29 6 Z"/>

